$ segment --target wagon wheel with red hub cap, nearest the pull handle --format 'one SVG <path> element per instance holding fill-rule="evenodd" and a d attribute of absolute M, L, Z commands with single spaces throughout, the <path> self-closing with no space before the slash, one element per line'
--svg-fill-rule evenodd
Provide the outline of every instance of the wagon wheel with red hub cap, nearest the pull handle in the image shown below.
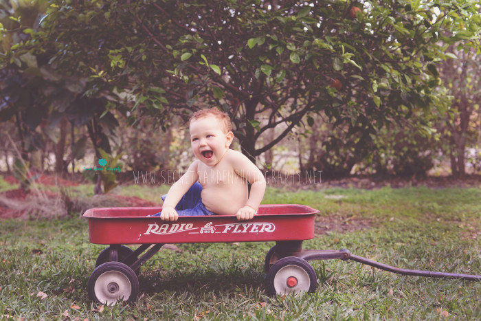
<path fill-rule="evenodd" d="M 267 272 L 267 291 L 271 295 L 313 292 L 317 276 L 307 261 L 295 256 L 281 258 Z"/>

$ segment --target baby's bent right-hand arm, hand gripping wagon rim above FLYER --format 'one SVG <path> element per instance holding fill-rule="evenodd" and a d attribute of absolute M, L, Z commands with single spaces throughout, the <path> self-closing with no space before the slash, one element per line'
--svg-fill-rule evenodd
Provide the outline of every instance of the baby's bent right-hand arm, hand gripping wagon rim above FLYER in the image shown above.
<path fill-rule="evenodd" d="M 237 211 L 236 217 L 239 221 L 252 219 L 264 197 L 265 177 L 245 155 L 241 153 L 232 153 L 232 155 L 232 164 L 237 175 L 244 177 L 251 184 L 249 199 L 245 206 Z"/>

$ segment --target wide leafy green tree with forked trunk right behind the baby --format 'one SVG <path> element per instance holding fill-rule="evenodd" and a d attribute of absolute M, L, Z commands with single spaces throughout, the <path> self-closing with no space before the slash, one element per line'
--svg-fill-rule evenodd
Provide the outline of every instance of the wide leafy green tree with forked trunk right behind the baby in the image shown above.
<path fill-rule="evenodd" d="M 147 115 L 165 128 L 170 115 L 217 105 L 254 160 L 313 113 L 368 148 L 385 124 L 445 106 L 436 64 L 444 43 L 476 39 L 477 10 L 469 0 L 57 0 L 21 50 L 87 79 L 80 96 L 123 102 L 105 111 L 128 107 L 131 124 Z"/>

